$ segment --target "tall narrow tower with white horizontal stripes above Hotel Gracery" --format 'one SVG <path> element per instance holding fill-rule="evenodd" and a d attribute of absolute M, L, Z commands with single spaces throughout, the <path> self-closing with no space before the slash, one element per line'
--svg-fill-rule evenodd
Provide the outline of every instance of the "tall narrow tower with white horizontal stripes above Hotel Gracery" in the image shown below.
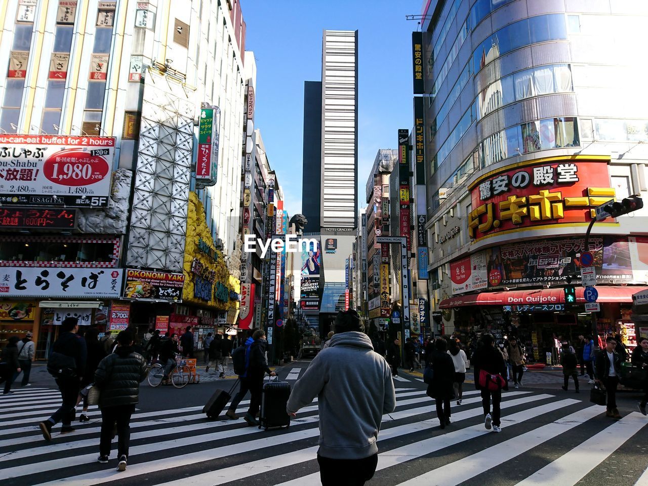
<path fill-rule="evenodd" d="M 355 228 L 358 207 L 358 31 L 322 41 L 321 226 Z"/>

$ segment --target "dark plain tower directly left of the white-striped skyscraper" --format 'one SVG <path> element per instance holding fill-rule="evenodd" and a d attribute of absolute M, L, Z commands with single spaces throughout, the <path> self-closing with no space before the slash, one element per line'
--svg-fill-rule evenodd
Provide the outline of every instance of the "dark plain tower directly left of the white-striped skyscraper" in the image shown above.
<path fill-rule="evenodd" d="M 301 183 L 301 213 L 306 233 L 319 233 L 321 218 L 322 83 L 304 82 L 304 148 Z"/>

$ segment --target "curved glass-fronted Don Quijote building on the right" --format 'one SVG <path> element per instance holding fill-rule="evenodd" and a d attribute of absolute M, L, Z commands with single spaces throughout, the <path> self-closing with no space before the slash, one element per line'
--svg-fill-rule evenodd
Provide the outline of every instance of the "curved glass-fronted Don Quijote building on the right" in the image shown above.
<path fill-rule="evenodd" d="M 598 205 L 648 196 L 645 65 L 624 47 L 648 41 L 648 5 L 433 0 L 422 13 L 413 74 L 437 330 L 515 332 L 540 362 L 568 327 L 633 347 L 648 209 L 585 235 Z M 570 281 L 577 305 L 565 308 Z M 596 284 L 597 305 L 581 283 Z"/>

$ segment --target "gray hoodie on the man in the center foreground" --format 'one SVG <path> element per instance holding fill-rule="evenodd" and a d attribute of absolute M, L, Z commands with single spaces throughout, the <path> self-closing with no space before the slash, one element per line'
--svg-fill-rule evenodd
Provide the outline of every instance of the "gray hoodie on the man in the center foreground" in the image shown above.
<path fill-rule="evenodd" d="M 391 369 L 362 332 L 335 334 L 290 393 L 295 413 L 318 397 L 319 451 L 331 459 L 362 459 L 378 452 L 384 413 L 396 408 Z"/>

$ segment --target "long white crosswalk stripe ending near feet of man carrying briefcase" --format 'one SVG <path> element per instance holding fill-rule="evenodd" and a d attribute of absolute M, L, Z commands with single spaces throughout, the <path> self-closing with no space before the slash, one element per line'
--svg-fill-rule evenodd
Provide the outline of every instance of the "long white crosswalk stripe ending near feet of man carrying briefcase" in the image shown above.
<path fill-rule="evenodd" d="M 513 457 L 520 456 L 531 448 L 538 446 L 553 437 L 564 434 L 596 415 L 601 415 L 601 407 L 594 405 L 579 410 L 555 422 L 538 427 L 531 432 L 521 434 L 498 445 L 491 446 L 476 454 L 446 464 L 416 478 L 401 483 L 399 486 L 456 486 L 463 481 L 474 478 L 481 472 L 492 469 Z"/>

